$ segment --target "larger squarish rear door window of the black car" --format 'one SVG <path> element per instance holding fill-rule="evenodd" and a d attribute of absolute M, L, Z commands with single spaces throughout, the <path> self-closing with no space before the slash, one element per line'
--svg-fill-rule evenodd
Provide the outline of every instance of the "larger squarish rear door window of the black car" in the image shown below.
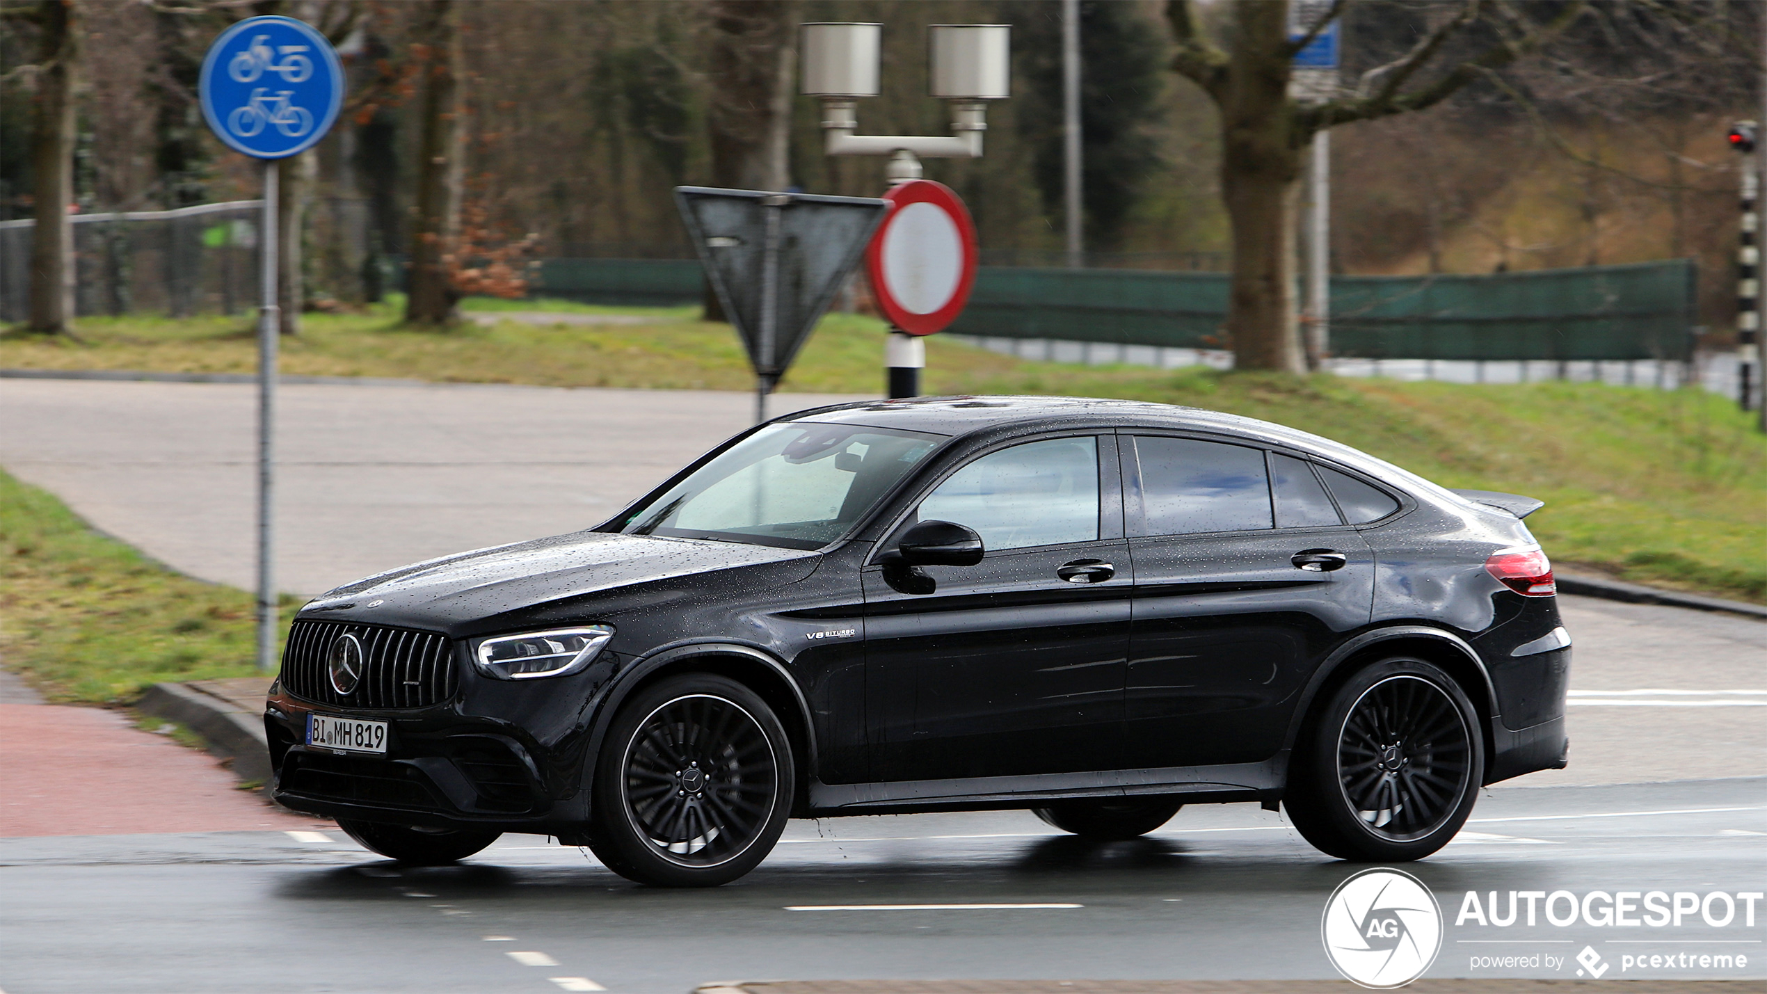
<path fill-rule="evenodd" d="M 1138 436 L 1143 521 L 1136 535 L 1270 528 L 1263 450 L 1189 438 Z"/>

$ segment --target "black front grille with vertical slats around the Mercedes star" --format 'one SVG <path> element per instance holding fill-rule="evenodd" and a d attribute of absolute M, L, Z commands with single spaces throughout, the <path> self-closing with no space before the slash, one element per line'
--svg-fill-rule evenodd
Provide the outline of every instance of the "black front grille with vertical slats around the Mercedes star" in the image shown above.
<path fill-rule="evenodd" d="M 362 643 L 362 680 L 350 694 L 330 683 L 332 641 Z M 283 650 L 283 687 L 307 701 L 339 708 L 424 708 L 454 696 L 454 653 L 444 636 L 350 621 L 295 621 Z"/>

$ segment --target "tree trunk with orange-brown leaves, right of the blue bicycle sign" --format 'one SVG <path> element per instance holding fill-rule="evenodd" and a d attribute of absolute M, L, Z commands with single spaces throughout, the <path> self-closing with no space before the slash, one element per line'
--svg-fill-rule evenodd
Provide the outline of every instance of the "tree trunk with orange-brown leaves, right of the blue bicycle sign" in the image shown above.
<path fill-rule="evenodd" d="M 422 71 L 422 136 L 417 159 L 417 203 L 412 215 L 412 272 L 405 320 L 445 325 L 459 295 L 444 260 L 459 230 L 461 85 L 459 11 L 454 0 L 428 0 L 421 34 L 428 46 Z"/>

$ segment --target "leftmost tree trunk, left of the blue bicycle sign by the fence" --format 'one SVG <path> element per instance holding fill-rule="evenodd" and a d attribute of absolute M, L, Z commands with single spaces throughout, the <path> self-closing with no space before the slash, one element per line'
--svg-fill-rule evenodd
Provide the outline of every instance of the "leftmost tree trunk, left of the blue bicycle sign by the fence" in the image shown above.
<path fill-rule="evenodd" d="M 37 5 L 37 97 L 32 115 L 34 208 L 30 244 L 30 330 L 65 334 L 74 320 L 74 87 L 80 71 L 80 23 L 72 0 Z"/>

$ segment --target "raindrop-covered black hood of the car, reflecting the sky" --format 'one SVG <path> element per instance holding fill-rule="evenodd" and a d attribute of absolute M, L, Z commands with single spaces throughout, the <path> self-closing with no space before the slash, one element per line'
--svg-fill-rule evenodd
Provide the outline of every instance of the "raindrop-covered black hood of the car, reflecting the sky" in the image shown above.
<path fill-rule="evenodd" d="M 537 604 L 820 553 L 654 535 L 574 531 L 412 563 L 339 586 L 300 609 L 300 618 L 454 629 Z"/>

